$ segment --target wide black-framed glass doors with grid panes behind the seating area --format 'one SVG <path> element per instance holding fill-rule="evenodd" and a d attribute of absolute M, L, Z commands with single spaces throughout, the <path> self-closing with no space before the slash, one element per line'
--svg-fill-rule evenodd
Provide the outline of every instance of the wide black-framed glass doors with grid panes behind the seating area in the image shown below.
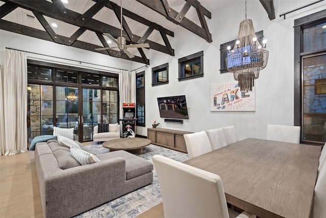
<path fill-rule="evenodd" d="M 40 65 L 42 64 L 42 65 Z M 118 74 L 28 60 L 28 141 L 73 128 L 93 140 L 98 123 L 118 123 Z"/>

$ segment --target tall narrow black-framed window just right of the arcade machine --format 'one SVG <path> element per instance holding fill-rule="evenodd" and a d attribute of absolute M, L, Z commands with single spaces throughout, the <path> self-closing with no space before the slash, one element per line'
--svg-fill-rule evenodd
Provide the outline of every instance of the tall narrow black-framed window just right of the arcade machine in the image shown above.
<path fill-rule="evenodd" d="M 137 126 L 145 127 L 145 71 L 136 74 Z"/>

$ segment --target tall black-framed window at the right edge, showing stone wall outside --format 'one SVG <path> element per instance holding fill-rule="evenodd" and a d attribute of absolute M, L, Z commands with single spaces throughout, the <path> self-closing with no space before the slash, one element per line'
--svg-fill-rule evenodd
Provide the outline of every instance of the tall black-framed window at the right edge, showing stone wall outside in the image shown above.
<path fill-rule="evenodd" d="M 326 141 L 326 10 L 294 20 L 294 126 L 301 142 Z"/>

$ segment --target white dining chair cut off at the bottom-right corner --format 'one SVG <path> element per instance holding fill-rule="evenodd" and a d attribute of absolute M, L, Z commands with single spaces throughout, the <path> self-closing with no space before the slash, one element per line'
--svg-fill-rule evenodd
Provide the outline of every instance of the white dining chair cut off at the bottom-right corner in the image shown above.
<path fill-rule="evenodd" d="M 326 153 L 326 152 L 324 152 Z M 313 218 L 326 217 L 326 165 L 322 164 L 315 185 Z"/>

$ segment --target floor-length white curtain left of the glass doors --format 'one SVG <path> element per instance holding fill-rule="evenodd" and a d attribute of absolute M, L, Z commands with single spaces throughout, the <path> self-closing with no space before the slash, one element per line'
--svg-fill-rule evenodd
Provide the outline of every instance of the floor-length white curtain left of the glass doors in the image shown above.
<path fill-rule="evenodd" d="M 5 137 L 1 137 L 1 154 L 15 155 L 25 152 L 28 144 L 26 53 L 6 49 L 2 76 Z"/>

